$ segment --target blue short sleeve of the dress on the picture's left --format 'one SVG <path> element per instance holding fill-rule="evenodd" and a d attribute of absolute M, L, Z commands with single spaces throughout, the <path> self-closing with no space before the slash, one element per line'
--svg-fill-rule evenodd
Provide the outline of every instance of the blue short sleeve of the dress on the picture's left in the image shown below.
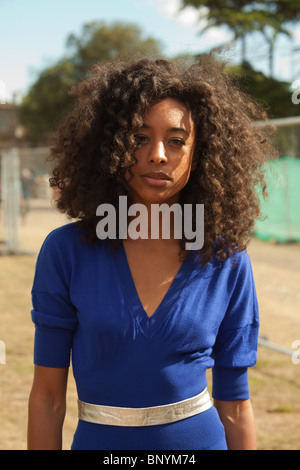
<path fill-rule="evenodd" d="M 32 287 L 34 363 L 44 367 L 69 367 L 77 326 L 69 296 L 71 258 L 63 234 L 58 229 L 46 238 L 37 258 Z"/>

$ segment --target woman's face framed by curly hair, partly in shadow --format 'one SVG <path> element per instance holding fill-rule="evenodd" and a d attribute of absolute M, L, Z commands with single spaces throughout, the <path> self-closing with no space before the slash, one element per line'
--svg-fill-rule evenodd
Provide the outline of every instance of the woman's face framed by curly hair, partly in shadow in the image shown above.
<path fill-rule="evenodd" d="M 173 98 L 155 103 L 135 138 L 137 163 L 126 175 L 133 202 L 178 202 L 194 167 L 195 126 L 190 110 Z"/>

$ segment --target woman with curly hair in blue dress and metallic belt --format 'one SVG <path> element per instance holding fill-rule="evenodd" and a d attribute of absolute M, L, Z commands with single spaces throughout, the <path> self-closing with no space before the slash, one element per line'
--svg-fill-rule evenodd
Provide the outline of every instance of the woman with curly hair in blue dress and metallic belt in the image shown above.
<path fill-rule="evenodd" d="M 29 448 L 62 446 L 72 351 L 72 449 L 255 449 L 248 367 L 259 319 L 245 248 L 271 152 L 252 124 L 261 113 L 212 61 L 97 66 L 73 94 L 50 181 L 77 220 L 47 237 L 37 261 Z M 120 235 L 120 196 L 146 208 L 143 236 L 137 223 L 129 231 L 130 210 Z M 102 204 L 118 213 L 119 235 L 106 240 Z M 204 204 L 203 245 L 187 250 L 172 216 L 170 236 L 161 218 L 151 237 L 157 204 L 190 204 L 182 224 L 193 227 Z"/>

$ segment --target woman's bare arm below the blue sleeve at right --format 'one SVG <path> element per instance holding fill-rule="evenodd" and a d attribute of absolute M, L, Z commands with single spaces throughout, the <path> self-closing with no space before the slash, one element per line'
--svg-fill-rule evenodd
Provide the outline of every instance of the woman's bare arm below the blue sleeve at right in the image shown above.
<path fill-rule="evenodd" d="M 250 400 L 214 400 L 225 428 L 229 450 L 256 450 L 256 430 Z"/>

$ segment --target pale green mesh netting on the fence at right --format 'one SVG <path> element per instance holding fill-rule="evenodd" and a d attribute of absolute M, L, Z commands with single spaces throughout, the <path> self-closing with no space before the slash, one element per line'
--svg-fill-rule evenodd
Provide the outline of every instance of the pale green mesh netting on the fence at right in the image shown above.
<path fill-rule="evenodd" d="M 270 160 L 265 168 L 269 197 L 259 193 L 262 217 L 254 234 L 263 240 L 300 242 L 300 158 Z"/>

